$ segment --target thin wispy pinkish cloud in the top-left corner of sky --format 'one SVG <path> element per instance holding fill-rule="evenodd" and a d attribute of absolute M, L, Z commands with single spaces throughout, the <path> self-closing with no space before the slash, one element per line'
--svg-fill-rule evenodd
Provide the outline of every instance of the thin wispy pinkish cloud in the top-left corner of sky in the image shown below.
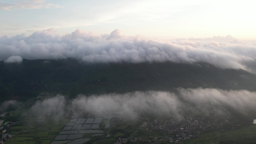
<path fill-rule="evenodd" d="M 12 9 L 42 9 L 50 7 L 61 8 L 60 5 L 45 3 L 45 0 L 19 0 L 9 1 L 8 3 L 0 2 L 0 9 L 12 10 Z"/>

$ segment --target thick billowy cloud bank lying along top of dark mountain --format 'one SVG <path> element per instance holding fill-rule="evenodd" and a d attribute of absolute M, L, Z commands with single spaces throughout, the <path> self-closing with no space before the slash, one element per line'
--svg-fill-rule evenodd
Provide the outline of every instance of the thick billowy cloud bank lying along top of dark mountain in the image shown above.
<path fill-rule="evenodd" d="M 168 42 L 122 36 L 120 30 L 95 36 L 77 29 L 59 36 L 54 29 L 30 36 L 1 36 L 0 59 L 12 55 L 23 59 L 75 58 L 94 62 L 206 62 L 221 68 L 254 70 L 256 46 L 232 36 L 204 39 L 176 39 Z"/>

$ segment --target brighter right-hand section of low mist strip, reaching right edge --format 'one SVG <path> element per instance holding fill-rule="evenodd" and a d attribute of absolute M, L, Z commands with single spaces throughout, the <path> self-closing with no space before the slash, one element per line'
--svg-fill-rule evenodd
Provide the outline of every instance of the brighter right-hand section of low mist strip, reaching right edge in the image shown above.
<path fill-rule="evenodd" d="M 230 107 L 244 112 L 246 108 L 255 108 L 256 92 L 247 90 L 220 90 L 213 88 L 184 89 L 179 88 L 179 94 L 186 102 L 197 108 L 225 109 Z"/>

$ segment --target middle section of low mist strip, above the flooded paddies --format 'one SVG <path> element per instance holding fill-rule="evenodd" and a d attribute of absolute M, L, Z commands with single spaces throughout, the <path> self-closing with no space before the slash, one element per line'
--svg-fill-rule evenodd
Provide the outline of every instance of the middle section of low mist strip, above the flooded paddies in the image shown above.
<path fill-rule="evenodd" d="M 121 111 L 129 116 L 136 116 L 136 112 L 164 115 L 176 111 L 178 105 L 177 97 L 168 92 L 148 91 L 89 97 L 79 95 L 73 99 L 71 109 L 91 114 Z"/>

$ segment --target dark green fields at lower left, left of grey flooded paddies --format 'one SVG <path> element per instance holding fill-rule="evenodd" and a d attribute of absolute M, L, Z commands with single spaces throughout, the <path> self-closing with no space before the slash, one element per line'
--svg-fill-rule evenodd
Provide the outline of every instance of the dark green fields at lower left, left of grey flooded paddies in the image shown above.
<path fill-rule="evenodd" d="M 8 111 L 5 116 L 1 117 L 6 132 L 0 132 L 0 136 L 5 133 L 15 135 L 7 144 L 50 144 L 50 142 L 58 135 L 65 126 L 68 119 L 55 120 L 55 116 L 44 117 L 36 116 L 29 109 L 19 109 Z M 6 127 L 10 122 L 15 125 Z"/>

